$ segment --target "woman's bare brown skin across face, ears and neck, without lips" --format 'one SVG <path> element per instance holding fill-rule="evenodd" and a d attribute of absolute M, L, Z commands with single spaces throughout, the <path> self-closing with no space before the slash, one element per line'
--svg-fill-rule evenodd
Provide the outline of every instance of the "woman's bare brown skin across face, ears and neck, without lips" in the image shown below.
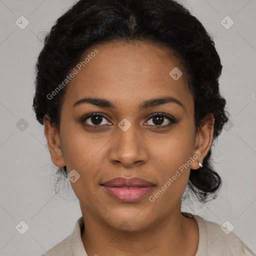
<path fill-rule="evenodd" d="M 145 42 L 98 44 L 98 53 L 72 78 L 64 94 L 60 130 L 44 116 L 44 133 L 52 162 L 75 169 L 80 177 L 71 186 L 80 202 L 85 229 L 81 237 L 87 254 L 186 255 L 198 246 L 198 226 L 181 214 L 181 196 L 190 168 L 199 168 L 212 143 L 214 117 L 208 114 L 200 128 L 194 125 L 194 102 L 183 75 L 174 80 L 169 72 L 177 64 L 158 46 Z M 83 97 L 105 98 L 116 108 L 90 103 L 73 104 Z M 172 96 L 170 102 L 146 109 L 144 100 Z M 89 113 L 104 113 L 98 127 Z M 157 125 L 150 115 L 172 115 L 177 123 Z M 118 123 L 131 126 L 123 131 Z M 86 125 L 87 123 L 87 125 Z M 95 123 L 95 119 L 94 119 Z M 171 123 L 170 126 L 165 124 Z M 165 127 L 164 127 L 165 125 Z M 157 126 L 161 126 L 157 129 Z M 198 158 L 158 197 L 149 201 L 179 166 L 199 151 Z M 121 202 L 100 186 L 114 177 L 140 177 L 155 184 L 153 191 L 135 202 Z M 126 229 L 128 229 L 126 231 Z M 184 244 L 186 246 L 184 246 Z"/>

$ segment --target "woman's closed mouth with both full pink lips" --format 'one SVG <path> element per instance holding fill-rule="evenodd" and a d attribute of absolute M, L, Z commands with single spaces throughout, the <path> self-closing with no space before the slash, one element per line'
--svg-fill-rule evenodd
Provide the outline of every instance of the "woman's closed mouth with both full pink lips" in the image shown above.
<path fill-rule="evenodd" d="M 155 186 L 153 183 L 138 177 L 129 179 L 117 177 L 100 185 L 110 196 L 122 202 L 137 201 L 147 195 Z"/>

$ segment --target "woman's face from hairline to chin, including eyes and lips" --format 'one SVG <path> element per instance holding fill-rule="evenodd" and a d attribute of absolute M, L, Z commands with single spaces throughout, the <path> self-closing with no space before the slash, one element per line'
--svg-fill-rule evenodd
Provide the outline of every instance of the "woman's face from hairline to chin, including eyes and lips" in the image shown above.
<path fill-rule="evenodd" d="M 61 154 L 51 152 L 55 165 L 72 170 L 70 183 L 83 216 L 139 230 L 180 214 L 190 167 L 197 169 L 197 160 L 203 159 L 193 98 L 183 75 L 178 78 L 181 67 L 162 49 L 143 42 L 100 44 L 81 59 L 87 54 L 89 61 L 76 68 L 63 98 Z M 104 101 L 76 103 L 88 97 Z M 165 97 L 174 100 L 152 101 Z M 91 113 L 98 114 L 85 119 Z M 106 181 L 117 177 L 138 177 L 151 185 L 107 187 Z"/>

